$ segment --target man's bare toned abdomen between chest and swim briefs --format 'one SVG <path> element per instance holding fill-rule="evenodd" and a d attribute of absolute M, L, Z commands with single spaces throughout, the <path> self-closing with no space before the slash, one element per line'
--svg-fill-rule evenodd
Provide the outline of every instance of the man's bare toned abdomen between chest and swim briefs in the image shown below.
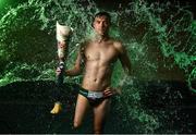
<path fill-rule="evenodd" d="M 103 91 L 111 84 L 111 71 L 108 64 L 87 62 L 82 87 L 91 91 Z"/>

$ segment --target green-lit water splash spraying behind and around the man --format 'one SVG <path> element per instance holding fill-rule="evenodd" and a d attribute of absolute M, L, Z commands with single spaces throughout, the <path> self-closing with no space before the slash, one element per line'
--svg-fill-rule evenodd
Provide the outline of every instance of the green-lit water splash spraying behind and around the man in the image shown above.
<path fill-rule="evenodd" d="M 90 35 L 91 17 L 99 10 L 102 9 L 98 9 L 90 0 L 28 0 L 11 9 L 0 20 L 0 85 L 27 79 L 53 81 L 56 21 L 74 28 L 68 61 L 68 66 L 72 66 L 78 49 L 76 45 Z M 117 114 L 117 118 L 122 118 L 124 125 L 117 125 L 117 130 L 155 133 L 162 126 L 161 116 L 167 115 L 163 113 L 170 112 L 155 113 L 145 109 L 142 99 L 151 89 L 146 88 L 148 83 L 140 86 L 137 79 L 158 79 L 156 83 L 160 86 L 162 79 L 184 81 L 185 77 L 189 88 L 195 91 L 196 25 L 193 14 L 179 4 L 156 2 L 149 5 L 145 1 L 130 2 L 126 8 L 122 9 L 120 5 L 118 11 L 109 12 L 113 22 L 111 35 L 123 40 L 134 69 L 133 77 L 123 78 L 121 64 L 118 62 L 114 68 L 113 84 L 119 85 L 122 78 L 124 81 L 121 82 L 124 96 L 117 98 L 118 102 L 123 103 L 114 105 L 114 112 L 121 114 Z M 176 69 L 182 75 L 169 77 Z M 69 78 L 66 82 L 78 83 L 79 77 Z M 162 98 L 167 95 L 166 91 Z M 170 100 L 174 100 L 172 96 Z"/>

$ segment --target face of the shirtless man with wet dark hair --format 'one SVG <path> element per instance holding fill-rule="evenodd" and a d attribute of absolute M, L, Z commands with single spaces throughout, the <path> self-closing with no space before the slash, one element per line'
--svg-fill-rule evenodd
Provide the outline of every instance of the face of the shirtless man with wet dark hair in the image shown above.
<path fill-rule="evenodd" d="M 93 23 L 94 29 L 99 35 L 108 34 L 110 22 L 107 16 L 97 16 Z"/>

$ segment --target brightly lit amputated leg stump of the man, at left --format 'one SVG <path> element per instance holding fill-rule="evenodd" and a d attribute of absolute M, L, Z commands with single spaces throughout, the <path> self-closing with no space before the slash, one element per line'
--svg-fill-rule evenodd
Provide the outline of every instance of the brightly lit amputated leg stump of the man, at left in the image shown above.
<path fill-rule="evenodd" d="M 75 107 L 74 123 L 78 125 L 82 123 L 83 118 L 85 116 L 88 108 L 89 108 L 89 102 L 87 98 L 78 94 L 76 107 Z"/>

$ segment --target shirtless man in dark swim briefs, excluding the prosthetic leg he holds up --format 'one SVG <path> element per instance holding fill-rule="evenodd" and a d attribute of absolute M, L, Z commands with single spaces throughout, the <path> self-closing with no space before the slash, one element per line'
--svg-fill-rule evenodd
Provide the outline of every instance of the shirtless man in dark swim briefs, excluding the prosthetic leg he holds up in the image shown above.
<path fill-rule="evenodd" d="M 118 90 L 111 87 L 114 62 L 120 60 L 124 71 L 127 74 L 131 73 L 131 62 L 124 47 L 120 41 L 109 37 L 110 24 L 110 15 L 107 12 L 99 12 L 95 15 L 93 21 L 95 36 L 82 44 L 74 68 L 65 71 L 68 76 L 78 75 L 84 64 L 74 127 L 82 124 L 85 113 L 91 108 L 95 134 L 103 132 L 106 116 L 110 110 L 110 97 L 118 94 Z"/>

